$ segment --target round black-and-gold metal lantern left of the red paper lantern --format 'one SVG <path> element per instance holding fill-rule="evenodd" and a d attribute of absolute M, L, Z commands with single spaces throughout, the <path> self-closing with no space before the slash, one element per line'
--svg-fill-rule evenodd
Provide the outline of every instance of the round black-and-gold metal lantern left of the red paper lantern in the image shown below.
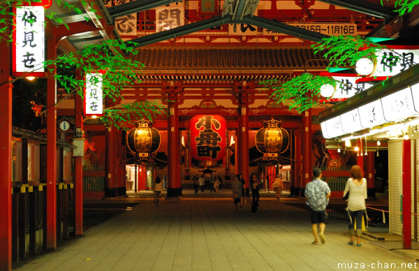
<path fill-rule="evenodd" d="M 156 152 L 160 147 L 160 133 L 152 128 L 152 123 L 141 119 L 137 128 L 133 128 L 126 133 L 126 145 L 131 153 L 138 153 L 140 156 L 148 156 L 149 153 Z"/>

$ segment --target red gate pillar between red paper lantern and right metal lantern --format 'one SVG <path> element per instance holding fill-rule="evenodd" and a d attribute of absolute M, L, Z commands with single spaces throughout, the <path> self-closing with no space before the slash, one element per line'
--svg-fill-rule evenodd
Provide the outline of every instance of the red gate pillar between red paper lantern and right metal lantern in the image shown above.
<path fill-rule="evenodd" d="M 247 93 L 241 92 L 239 95 L 239 128 L 237 138 L 237 166 L 238 173 L 243 175 L 246 187 L 249 188 L 249 105 L 247 103 Z"/>

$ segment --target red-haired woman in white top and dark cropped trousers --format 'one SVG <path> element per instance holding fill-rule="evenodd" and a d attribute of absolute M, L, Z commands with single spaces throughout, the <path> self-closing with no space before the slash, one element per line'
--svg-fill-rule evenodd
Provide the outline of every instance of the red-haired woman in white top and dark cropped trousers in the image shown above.
<path fill-rule="evenodd" d="M 360 166 L 353 166 L 351 168 L 351 178 L 348 179 L 345 186 L 344 196 L 349 193 L 348 210 L 349 214 L 349 237 L 351 238 L 348 244 L 353 244 L 355 240 L 353 224 L 356 220 L 356 237 L 357 246 L 361 246 L 361 227 L 362 216 L 365 214 L 365 199 L 367 198 L 367 180 L 362 177 L 362 170 Z"/>

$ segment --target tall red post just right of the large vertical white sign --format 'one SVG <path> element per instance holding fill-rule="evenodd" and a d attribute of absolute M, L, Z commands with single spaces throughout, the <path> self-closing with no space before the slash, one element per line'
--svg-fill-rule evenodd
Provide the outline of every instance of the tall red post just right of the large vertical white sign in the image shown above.
<path fill-rule="evenodd" d="M 53 27 L 50 27 L 53 31 Z M 47 36 L 47 58 L 57 57 L 54 34 Z M 55 75 L 52 71 L 49 75 Z M 57 85 L 47 78 L 47 249 L 57 247 Z"/>

